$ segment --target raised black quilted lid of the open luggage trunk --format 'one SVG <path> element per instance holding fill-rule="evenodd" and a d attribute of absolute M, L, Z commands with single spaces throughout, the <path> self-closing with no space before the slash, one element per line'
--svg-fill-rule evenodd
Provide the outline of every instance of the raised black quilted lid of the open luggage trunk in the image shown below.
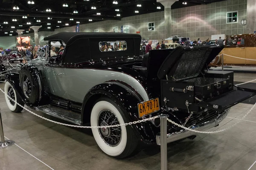
<path fill-rule="evenodd" d="M 212 45 L 177 47 L 166 57 L 157 77 L 163 79 L 167 76 L 174 81 L 198 77 L 222 49 L 223 47 Z"/>

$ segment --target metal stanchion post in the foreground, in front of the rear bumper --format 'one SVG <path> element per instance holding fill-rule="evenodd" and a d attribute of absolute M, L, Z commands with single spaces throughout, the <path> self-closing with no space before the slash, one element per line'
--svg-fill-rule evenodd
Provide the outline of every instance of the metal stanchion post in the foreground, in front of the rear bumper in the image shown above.
<path fill-rule="evenodd" d="M 167 117 L 160 115 L 161 170 L 167 170 Z"/>

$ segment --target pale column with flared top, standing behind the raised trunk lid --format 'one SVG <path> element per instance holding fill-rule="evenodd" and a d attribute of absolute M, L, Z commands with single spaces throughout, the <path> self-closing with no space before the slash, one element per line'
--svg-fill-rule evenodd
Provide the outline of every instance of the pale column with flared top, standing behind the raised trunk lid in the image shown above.
<path fill-rule="evenodd" d="M 172 11 L 171 7 L 178 0 L 157 0 L 164 6 L 165 38 L 172 36 Z"/>

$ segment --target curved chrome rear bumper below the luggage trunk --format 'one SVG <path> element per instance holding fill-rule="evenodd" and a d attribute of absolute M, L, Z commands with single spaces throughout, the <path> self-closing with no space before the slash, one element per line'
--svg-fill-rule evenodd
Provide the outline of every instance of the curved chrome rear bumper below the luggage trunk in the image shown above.
<path fill-rule="evenodd" d="M 227 109 L 221 115 L 219 115 L 216 119 L 213 119 L 212 121 L 204 123 L 204 124 L 195 125 L 195 126 L 191 127 L 191 129 L 198 130 L 198 131 L 204 131 L 209 128 L 215 127 L 227 116 L 229 111 L 230 111 L 230 109 Z M 175 132 L 175 133 L 169 133 L 169 134 L 167 134 L 167 143 L 174 142 L 179 139 L 183 139 L 183 138 L 192 136 L 194 134 L 195 134 L 195 132 L 192 132 L 190 130 L 184 130 L 184 129 L 180 130 L 178 132 Z M 157 142 L 157 145 L 160 145 L 160 133 L 157 134 L 157 136 L 156 136 L 156 142 Z"/>

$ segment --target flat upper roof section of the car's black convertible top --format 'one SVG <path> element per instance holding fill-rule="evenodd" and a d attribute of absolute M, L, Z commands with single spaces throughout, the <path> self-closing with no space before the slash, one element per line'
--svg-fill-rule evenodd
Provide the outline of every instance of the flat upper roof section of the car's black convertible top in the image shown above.
<path fill-rule="evenodd" d="M 124 38 L 124 37 L 133 37 L 140 38 L 140 34 L 128 34 L 128 33 L 113 33 L 113 32 L 60 32 L 49 37 L 45 37 L 45 41 L 49 40 L 62 40 L 68 45 L 68 42 L 72 40 L 77 40 L 79 38 Z"/>

